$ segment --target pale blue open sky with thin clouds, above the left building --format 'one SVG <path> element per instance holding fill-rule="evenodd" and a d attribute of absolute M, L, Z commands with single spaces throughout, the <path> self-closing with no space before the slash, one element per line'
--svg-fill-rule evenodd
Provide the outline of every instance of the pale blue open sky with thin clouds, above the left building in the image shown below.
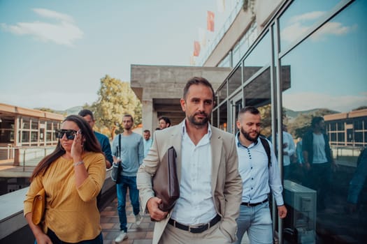
<path fill-rule="evenodd" d="M 0 102 L 68 109 L 131 64 L 189 66 L 207 10 L 219 29 L 217 0 L 0 0 Z"/>

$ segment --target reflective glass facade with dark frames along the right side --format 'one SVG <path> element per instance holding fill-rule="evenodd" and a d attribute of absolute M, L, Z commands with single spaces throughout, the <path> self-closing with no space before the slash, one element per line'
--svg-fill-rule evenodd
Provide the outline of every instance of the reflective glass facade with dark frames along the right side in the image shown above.
<path fill-rule="evenodd" d="M 287 1 L 217 91 L 220 104 L 214 111 L 219 128 L 235 133 L 229 107 L 235 105 L 238 111 L 253 105 L 261 111 L 263 135 L 282 135 L 279 122 L 287 125 L 294 139 L 296 151 L 289 178 L 284 179 L 289 210 L 283 221 L 283 229 L 289 231 L 285 241 L 295 238 L 295 233 L 298 240 L 309 243 L 367 240 L 366 174 L 360 171 L 366 167 L 357 167 L 367 164 L 366 160 L 357 164 L 367 146 L 366 13 L 363 0 Z M 272 31 L 273 26 L 279 31 Z M 308 149 L 302 145 L 314 143 L 308 131 L 316 116 L 325 121 L 322 140 L 329 143 L 329 161 L 336 164 L 327 167 L 327 175 L 316 174 L 313 164 L 310 169 L 304 164 L 302 152 Z M 320 155 L 326 153 L 323 150 Z M 275 151 L 282 167 L 282 147 Z M 308 161 L 317 156 L 313 157 Z M 289 182 L 310 195 L 299 197 Z"/>

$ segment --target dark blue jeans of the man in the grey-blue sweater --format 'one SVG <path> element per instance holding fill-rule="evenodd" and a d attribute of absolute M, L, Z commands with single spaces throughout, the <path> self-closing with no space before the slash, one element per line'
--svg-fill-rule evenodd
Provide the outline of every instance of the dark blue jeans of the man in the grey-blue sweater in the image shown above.
<path fill-rule="evenodd" d="M 126 195 L 129 188 L 131 205 L 133 206 L 134 215 L 140 212 L 139 190 L 136 187 L 136 176 L 121 176 L 120 183 L 116 184 L 117 190 L 117 211 L 120 219 L 120 230 L 127 232 L 126 217 Z"/>

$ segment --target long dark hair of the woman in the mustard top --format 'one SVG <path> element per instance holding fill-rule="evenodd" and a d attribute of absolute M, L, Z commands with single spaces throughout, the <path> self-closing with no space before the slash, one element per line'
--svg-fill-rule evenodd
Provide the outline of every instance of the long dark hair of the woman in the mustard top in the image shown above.
<path fill-rule="evenodd" d="M 92 128 L 90 127 L 89 123 L 87 123 L 87 121 L 82 118 L 82 116 L 69 115 L 62 122 L 64 123 L 65 121 L 73 121 L 80 128 L 82 132 L 82 137 L 85 139 L 85 142 L 83 144 L 84 151 L 102 153 L 101 146 L 99 145 L 99 142 L 97 141 Z M 48 167 L 50 167 L 52 162 L 54 162 L 55 160 L 57 160 L 57 158 L 61 157 L 64 154 L 65 151 L 63 150 L 59 139 L 55 151 L 45 156 L 45 158 L 43 158 L 41 162 L 38 163 L 29 181 L 32 181 L 34 177 L 36 177 L 38 174 L 45 174 L 45 171 L 48 169 Z"/>

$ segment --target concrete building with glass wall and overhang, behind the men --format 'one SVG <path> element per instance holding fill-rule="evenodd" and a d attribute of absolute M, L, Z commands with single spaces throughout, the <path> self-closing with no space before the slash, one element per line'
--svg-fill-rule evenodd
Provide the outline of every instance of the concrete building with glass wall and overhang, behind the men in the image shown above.
<path fill-rule="evenodd" d="M 229 15 L 229 24 L 217 31 L 214 41 L 199 56 L 200 66 L 131 66 L 131 88 L 143 103 L 144 129 L 154 130 L 161 115 L 171 116 L 173 124 L 182 120 L 178 100 L 185 82 L 194 75 L 213 82 L 217 100 L 211 123 L 231 133 L 236 133 L 239 109 L 247 105 L 268 114 L 264 118 L 266 133 L 273 138 L 276 133 L 282 134 L 282 123 L 294 123 L 284 109 L 323 116 L 329 114 L 326 110 L 343 113 L 367 105 L 366 1 L 232 2 L 237 4 Z M 301 116 L 299 113 L 298 119 Z M 305 121 L 305 125 L 308 123 Z M 366 128 L 366 121 L 361 123 Z M 281 145 L 282 137 L 278 138 Z M 361 138 L 364 141 L 354 149 L 365 145 L 366 136 Z M 282 167 L 282 150 L 275 150 Z M 338 158 L 335 160 L 338 164 Z M 343 160 L 356 158 L 344 155 Z M 298 238 L 298 243 L 363 243 L 367 239 L 366 189 L 361 193 L 360 214 L 338 219 L 347 207 L 347 188 L 354 171 L 355 167 L 340 164 L 333 173 L 326 212 L 316 215 L 310 205 L 308 211 L 303 205 L 300 212 L 288 202 L 292 221 L 285 223 L 292 222 L 292 226 L 283 226 L 274 211 L 274 229 L 280 243 L 292 238 Z M 296 193 L 294 196 L 299 196 L 300 192 Z M 291 198 L 298 199 L 294 196 Z M 305 217 L 306 212 L 317 216 L 317 224 L 305 225 L 316 221 Z M 294 217 L 298 215 L 299 221 Z M 286 228 L 298 235 L 284 232 Z"/>

